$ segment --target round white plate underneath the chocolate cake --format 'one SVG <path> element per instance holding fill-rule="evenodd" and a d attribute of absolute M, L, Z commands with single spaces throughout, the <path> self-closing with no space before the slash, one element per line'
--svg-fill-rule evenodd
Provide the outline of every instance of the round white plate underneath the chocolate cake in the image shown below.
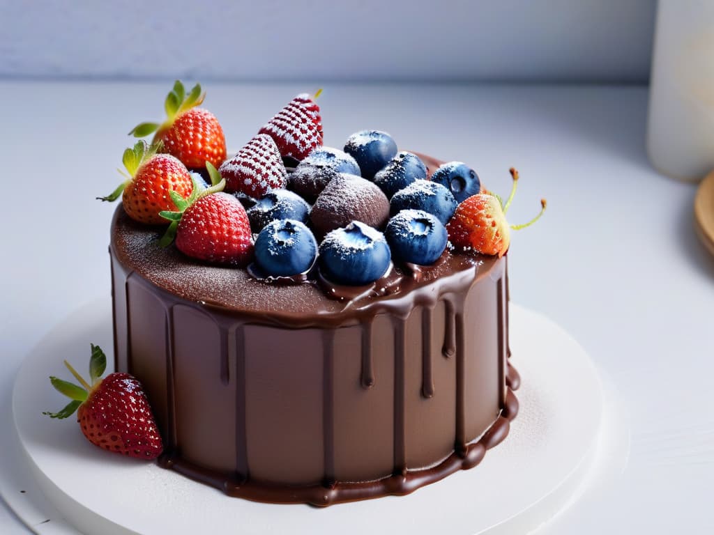
<path fill-rule="evenodd" d="M 600 377 L 583 349 L 550 320 L 511 305 L 521 411 L 506 441 L 478 467 L 409 496 L 326 509 L 258 504 L 107 454 L 86 442 L 73 421 L 42 416 L 63 402 L 47 377 L 64 374 L 64 358 L 84 362 L 89 342 L 111 349 L 109 300 L 67 317 L 26 357 L 14 384 L 15 461 L 25 464 L 51 505 L 18 507 L 16 490 L 6 500 L 37 533 L 69 533 L 63 516 L 81 531 L 106 535 L 526 533 L 573 503 L 595 477 L 607 429 Z M 18 484 L 29 487 L 26 480 Z M 5 496 L 7 489 L 0 490 Z M 54 524 L 36 524 L 43 514 L 54 515 Z"/>

